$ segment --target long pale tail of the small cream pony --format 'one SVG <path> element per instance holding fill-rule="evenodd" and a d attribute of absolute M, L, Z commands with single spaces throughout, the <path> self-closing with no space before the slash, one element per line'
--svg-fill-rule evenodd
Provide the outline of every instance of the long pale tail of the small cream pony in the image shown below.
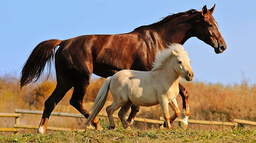
<path fill-rule="evenodd" d="M 99 90 L 99 93 L 97 94 L 97 97 L 94 100 L 93 106 L 91 107 L 91 109 L 89 109 L 89 111 L 92 110 L 91 115 L 89 115 L 89 117 L 87 118 L 87 122 L 85 124 L 95 119 L 95 117 L 99 114 L 99 111 L 101 111 L 101 109 L 105 105 L 109 93 L 109 85 L 111 82 L 111 78 L 112 77 L 108 77 L 106 81 L 103 83 L 101 89 Z"/>

